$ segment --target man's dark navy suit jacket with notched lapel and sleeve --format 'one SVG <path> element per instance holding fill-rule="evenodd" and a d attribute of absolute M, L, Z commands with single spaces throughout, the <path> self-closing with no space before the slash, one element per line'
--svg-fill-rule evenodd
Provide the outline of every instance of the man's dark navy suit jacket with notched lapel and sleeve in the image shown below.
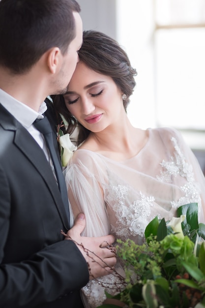
<path fill-rule="evenodd" d="M 0 104 L 0 308 L 81 307 L 88 266 L 68 228 L 43 151 Z"/>

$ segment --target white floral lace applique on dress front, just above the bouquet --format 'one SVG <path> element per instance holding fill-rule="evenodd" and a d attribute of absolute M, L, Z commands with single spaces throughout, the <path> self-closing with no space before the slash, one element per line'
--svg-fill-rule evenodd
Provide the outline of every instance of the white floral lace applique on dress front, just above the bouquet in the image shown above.
<path fill-rule="evenodd" d="M 107 187 L 108 200 L 113 204 L 113 211 L 117 218 L 116 227 L 112 227 L 120 239 L 128 239 L 130 236 L 144 237 L 146 225 L 148 224 L 148 217 L 151 214 L 151 207 L 153 206 L 154 197 L 145 196 L 141 191 L 139 192 L 139 200 L 134 201 L 130 205 L 125 204 L 125 196 L 130 189 L 123 185 L 109 185 Z"/>

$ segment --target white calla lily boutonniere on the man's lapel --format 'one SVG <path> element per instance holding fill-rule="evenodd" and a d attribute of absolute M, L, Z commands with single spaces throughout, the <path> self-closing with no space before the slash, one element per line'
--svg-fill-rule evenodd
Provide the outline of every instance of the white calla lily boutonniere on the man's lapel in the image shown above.
<path fill-rule="evenodd" d="M 77 150 L 77 147 L 70 141 L 70 134 L 63 135 L 60 129 L 62 126 L 64 124 L 60 123 L 57 127 L 57 140 L 60 145 L 61 164 L 63 167 L 66 167 L 70 158 L 73 156 L 73 152 Z"/>

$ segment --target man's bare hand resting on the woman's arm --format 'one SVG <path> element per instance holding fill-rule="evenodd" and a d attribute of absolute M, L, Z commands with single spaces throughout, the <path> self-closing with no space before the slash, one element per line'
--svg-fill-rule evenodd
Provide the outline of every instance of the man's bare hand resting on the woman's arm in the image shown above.
<path fill-rule="evenodd" d="M 113 247 L 109 245 L 115 241 L 114 236 L 82 237 L 86 219 L 84 214 L 79 214 L 74 226 L 67 232 L 66 239 L 73 240 L 84 258 L 88 262 L 90 278 L 100 277 L 112 273 L 112 267 L 116 264 L 116 254 Z M 88 250 L 87 250 L 88 249 Z"/>

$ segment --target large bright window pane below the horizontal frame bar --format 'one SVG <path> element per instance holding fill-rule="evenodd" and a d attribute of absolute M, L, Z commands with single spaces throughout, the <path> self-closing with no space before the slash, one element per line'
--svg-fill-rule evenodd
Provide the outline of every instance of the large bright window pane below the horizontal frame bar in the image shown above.
<path fill-rule="evenodd" d="M 205 128 L 205 28 L 155 34 L 158 125 Z"/>

